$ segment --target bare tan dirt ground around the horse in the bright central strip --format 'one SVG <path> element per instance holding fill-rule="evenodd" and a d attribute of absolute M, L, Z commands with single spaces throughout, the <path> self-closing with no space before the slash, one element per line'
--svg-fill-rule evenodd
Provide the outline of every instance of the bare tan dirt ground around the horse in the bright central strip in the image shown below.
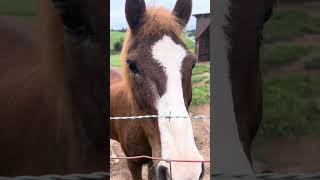
<path fill-rule="evenodd" d="M 193 106 L 190 115 L 209 115 L 209 105 Z M 210 121 L 208 119 L 193 120 L 193 132 L 195 141 L 200 153 L 205 160 L 210 160 Z M 116 141 L 110 142 L 111 147 L 117 156 L 125 156 L 121 150 L 120 144 Z M 110 165 L 111 180 L 130 180 L 130 172 L 125 160 L 121 160 L 118 164 Z M 205 164 L 205 180 L 210 179 L 210 164 Z M 143 168 L 143 179 L 147 179 L 147 167 Z"/>

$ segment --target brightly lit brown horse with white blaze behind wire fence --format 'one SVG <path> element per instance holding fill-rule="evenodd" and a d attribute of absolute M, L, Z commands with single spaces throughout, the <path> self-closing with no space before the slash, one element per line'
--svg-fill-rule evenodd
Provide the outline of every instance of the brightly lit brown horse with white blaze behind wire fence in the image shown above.
<path fill-rule="evenodd" d="M 126 156 L 203 160 L 187 111 L 197 57 L 188 51 L 182 34 L 191 10 L 192 0 L 177 0 L 172 12 L 146 7 L 143 0 L 126 1 L 129 28 L 121 52 L 122 71 L 110 71 L 110 116 L 160 116 L 111 120 L 110 138 L 120 142 Z M 204 175 L 202 162 L 171 162 L 170 167 L 164 161 L 127 160 L 134 180 L 142 179 L 143 164 L 148 164 L 149 179 L 202 179 Z"/>

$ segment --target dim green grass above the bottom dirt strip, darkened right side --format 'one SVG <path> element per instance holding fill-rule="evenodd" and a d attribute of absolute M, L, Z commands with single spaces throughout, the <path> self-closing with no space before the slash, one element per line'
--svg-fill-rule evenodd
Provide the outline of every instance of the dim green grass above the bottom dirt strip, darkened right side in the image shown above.
<path fill-rule="evenodd" d="M 259 138 L 320 135 L 320 16 L 303 9 L 275 11 L 264 30 L 261 67 L 265 74 L 299 63 L 295 72 L 264 81 L 264 112 Z M 300 40 L 299 40 L 300 39 Z M 311 38 L 313 39 L 313 38 Z M 320 44 L 319 44 L 320 45 Z"/>

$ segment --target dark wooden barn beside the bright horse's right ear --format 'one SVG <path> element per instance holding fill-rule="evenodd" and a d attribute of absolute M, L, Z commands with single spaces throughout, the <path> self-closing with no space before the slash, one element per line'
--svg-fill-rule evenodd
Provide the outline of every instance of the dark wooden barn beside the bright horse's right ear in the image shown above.
<path fill-rule="evenodd" d="M 199 62 L 210 61 L 210 13 L 193 16 L 197 19 L 194 52 Z"/>

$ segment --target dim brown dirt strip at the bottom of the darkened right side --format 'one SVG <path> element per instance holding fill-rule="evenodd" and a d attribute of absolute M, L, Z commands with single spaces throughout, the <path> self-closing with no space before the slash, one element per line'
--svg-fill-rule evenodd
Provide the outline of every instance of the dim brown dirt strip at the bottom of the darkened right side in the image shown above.
<path fill-rule="evenodd" d="M 254 145 L 257 172 L 318 172 L 320 141 L 316 136 L 272 138 Z"/>

